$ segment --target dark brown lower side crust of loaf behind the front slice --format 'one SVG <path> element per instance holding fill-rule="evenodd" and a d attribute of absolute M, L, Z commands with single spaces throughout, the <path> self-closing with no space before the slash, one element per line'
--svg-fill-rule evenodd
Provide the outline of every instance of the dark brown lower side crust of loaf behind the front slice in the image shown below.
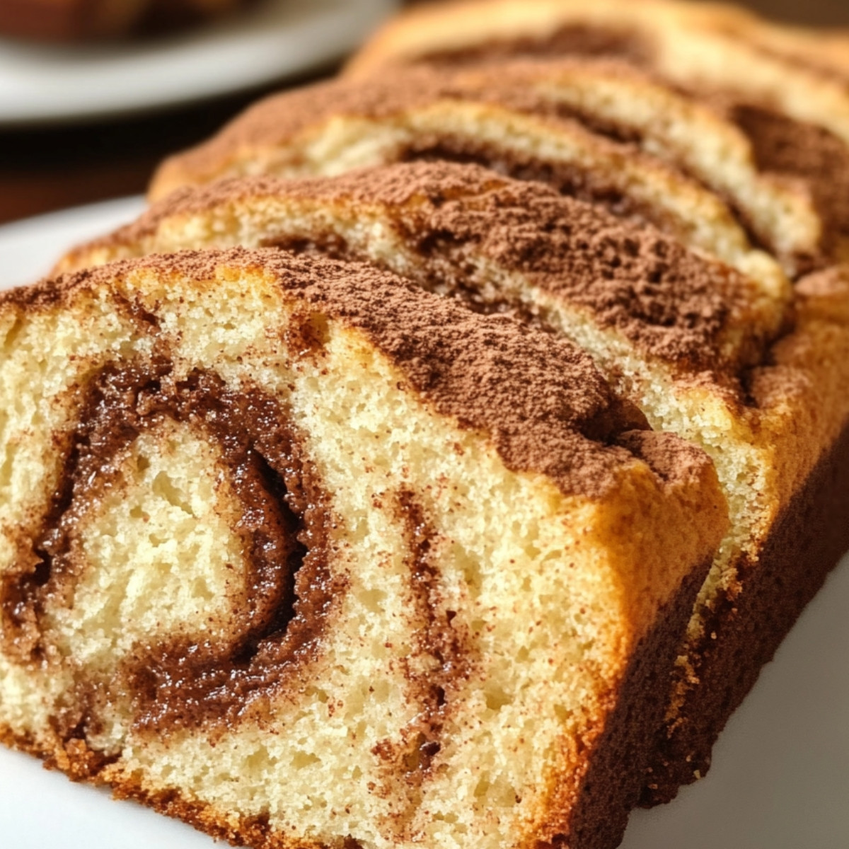
<path fill-rule="evenodd" d="M 773 523 L 758 562 L 738 564 L 740 592 L 706 614 L 687 672 L 699 686 L 679 682 L 683 700 L 676 722 L 658 736 L 644 806 L 672 801 L 681 785 L 707 773 L 728 718 L 849 548 L 847 513 L 849 421 Z"/>

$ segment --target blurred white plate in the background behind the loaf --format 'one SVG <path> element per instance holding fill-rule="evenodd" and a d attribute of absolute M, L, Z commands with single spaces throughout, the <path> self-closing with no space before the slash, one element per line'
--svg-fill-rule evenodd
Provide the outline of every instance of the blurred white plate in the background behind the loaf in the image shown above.
<path fill-rule="evenodd" d="M 339 59 L 396 0 L 264 0 L 151 42 L 42 46 L 0 41 L 0 127 L 188 103 Z"/>

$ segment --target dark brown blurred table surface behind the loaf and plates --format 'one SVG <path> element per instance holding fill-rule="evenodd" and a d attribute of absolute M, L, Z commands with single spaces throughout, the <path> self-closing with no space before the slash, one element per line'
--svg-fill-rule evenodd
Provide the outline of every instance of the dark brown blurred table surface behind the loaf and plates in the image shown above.
<path fill-rule="evenodd" d="M 748 5 L 801 24 L 849 27 L 849 0 L 750 0 Z M 325 69 L 323 76 L 334 70 Z M 306 81 L 287 85 L 298 82 Z M 163 156 L 200 141 L 278 87 L 78 127 L 0 131 L 0 222 L 141 192 Z"/>

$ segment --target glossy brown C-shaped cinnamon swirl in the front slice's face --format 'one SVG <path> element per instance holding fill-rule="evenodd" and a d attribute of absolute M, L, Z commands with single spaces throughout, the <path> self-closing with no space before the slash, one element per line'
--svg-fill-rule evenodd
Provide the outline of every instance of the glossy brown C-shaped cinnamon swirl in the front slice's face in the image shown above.
<path fill-rule="evenodd" d="M 165 360 L 110 365 L 88 388 L 42 527 L 21 551 L 20 571 L 3 581 L 10 655 L 26 663 L 50 654 L 45 610 L 65 604 L 86 568 L 79 526 L 119 482 L 121 454 L 165 419 L 218 445 L 241 510 L 245 574 L 230 599 L 239 625 L 228 638 L 137 644 L 122 661 L 112 686 L 132 694 L 136 727 L 158 732 L 232 721 L 284 687 L 318 651 L 343 589 L 329 571 L 328 499 L 277 401 L 228 390 L 210 372 L 174 380 Z"/>

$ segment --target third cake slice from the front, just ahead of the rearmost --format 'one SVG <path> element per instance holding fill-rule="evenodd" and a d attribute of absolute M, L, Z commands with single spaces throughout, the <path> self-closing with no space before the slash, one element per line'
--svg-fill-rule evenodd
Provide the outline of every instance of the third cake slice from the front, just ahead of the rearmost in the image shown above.
<path fill-rule="evenodd" d="M 745 138 L 717 114 L 610 65 L 553 73 L 562 74 L 562 84 L 526 65 L 497 74 L 413 69 L 267 98 L 209 142 L 166 160 L 150 194 L 161 199 L 174 188 L 228 176 L 333 175 L 404 160 L 458 160 L 549 183 L 617 216 L 650 222 L 776 287 L 786 285 L 784 275 L 753 248 L 750 220 L 769 231 L 767 241 L 791 270 L 818 256 L 823 229 L 813 206 L 761 177 Z M 588 91 L 595 82 L 613 92 L 605 101 L 620 98 L 632 113 L 627 140 L 615 129 L 603 132 L 615 119 L 601 106 L 593 110 Z M 680 124 L 655 121 L 649 132 L 649 115 L 667 100 L 674 101 Z M 642 117 L 635 114 L 640 111 Z M 689 128 L 690 140 L 704 142 L 687 149 L 681 127 Z M 633 143 L 640 132 L 642 149 Z M 717 159 L 727 171 L 711 190 L 702 177 L 707 162 Z M 689 173 L 683 170 L 688 162 Z M 739 206 L 748 205 L 751 216 L 736 215 L 720 193 L 719 183 L 734 182 L 731 173 L 745 175 Z"/>

